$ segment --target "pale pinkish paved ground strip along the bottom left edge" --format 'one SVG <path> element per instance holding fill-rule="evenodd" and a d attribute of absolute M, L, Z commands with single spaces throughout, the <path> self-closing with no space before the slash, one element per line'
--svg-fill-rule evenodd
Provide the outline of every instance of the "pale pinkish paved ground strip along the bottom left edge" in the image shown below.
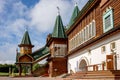
<path fill-rule="evenodd" d="M 64 80 L 64 79 L 50 77 L 19 77 L 19 78 L 0 77 L 0 80 Z"/>

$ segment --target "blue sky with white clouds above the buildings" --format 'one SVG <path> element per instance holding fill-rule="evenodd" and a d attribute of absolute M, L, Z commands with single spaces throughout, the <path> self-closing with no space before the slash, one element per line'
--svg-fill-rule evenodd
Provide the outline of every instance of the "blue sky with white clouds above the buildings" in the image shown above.
<path fill-rule="evenodd" d="M 16 49 L 27 28 L 33 51 L 46 44 L 57 16 L 57 6 L 64 26 L 67 26 L 75 3 L 79 9 L 88 0 L 0 0 L 0 64 L 13 64 Z"/>

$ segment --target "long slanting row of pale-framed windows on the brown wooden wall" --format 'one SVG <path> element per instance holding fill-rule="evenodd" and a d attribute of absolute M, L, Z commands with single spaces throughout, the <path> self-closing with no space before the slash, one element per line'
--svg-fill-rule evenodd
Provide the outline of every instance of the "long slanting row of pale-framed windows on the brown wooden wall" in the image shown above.
<path fill-rule="evenodd" d="M 96 35 L 95 20 L 86 25 L 82 30 L 73 36 L 69 42 L 69 50 L 72 50 L 79 46 L 80 44 L 90 40 Z"/>

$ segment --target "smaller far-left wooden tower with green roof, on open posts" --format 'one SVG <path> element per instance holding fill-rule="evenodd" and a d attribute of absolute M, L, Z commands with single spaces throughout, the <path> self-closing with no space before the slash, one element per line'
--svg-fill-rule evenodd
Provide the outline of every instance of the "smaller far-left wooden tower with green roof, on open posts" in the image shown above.
<path fill-rule="evenodd" d="M 32 45 L 28 31 L 25 31 L 21 43 L 18 45 L 20 47 L 20 52 L 17 52 L 16 65 L 19 66 L 19 75 L 21 76 L 23 66 L 30 69 L 32 74 L 32 62 L 34 61 L 32 54 Z"/>

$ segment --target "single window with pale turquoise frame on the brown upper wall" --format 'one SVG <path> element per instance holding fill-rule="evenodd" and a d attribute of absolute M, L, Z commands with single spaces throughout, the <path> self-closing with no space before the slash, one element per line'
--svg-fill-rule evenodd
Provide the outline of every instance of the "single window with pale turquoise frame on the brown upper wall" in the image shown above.
<path fill-rule="evenodd" d="M 103 32 L 113 28 L 113 9 L 111 7 L 103 14 Z"/>

